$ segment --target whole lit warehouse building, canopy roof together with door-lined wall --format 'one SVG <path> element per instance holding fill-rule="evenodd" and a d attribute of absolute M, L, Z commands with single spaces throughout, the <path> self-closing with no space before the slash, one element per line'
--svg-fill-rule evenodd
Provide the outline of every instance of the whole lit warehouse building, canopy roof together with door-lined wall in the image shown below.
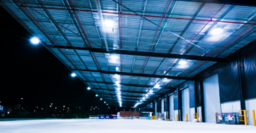
<path fill-rule="evenodd" d="M 157 119 L 191 128 L 192 122 L 236 123 L 234 132 L 256 126 L 256 4 L 250 1 L 0 4 L 109 106 L 150 112 L 155 125 L 164 122 Z"/>

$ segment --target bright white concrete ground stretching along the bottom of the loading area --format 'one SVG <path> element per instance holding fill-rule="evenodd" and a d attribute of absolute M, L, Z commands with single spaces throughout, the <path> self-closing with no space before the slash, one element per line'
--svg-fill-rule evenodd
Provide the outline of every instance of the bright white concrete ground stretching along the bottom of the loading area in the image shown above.
<path fill-rule="evenodd" d="M 256 133 L 255 126 L 143 119 L 34 119 L 0 121 L 0 133 Z"/>

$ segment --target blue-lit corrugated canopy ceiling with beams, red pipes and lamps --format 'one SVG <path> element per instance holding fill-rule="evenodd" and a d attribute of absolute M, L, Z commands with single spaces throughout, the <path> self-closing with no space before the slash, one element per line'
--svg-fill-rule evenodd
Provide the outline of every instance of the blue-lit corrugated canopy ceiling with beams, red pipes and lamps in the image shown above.
<path fill-rule="evenodd" d="M 256 38 L 255 6 L 183 0 L 0 3 L 109 105 L 149 103 L 212 64 L 229 62 L 230 53 Z"/>

